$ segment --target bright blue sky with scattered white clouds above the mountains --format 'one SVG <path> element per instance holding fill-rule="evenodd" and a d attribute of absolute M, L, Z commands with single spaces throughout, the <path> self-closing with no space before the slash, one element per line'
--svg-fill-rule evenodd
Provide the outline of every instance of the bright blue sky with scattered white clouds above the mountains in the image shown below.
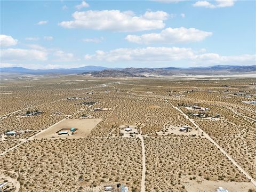
<path fill-rule="evenodd" d="M 255 1 L 1 1 L 1 67 L 255 65 Z"/>

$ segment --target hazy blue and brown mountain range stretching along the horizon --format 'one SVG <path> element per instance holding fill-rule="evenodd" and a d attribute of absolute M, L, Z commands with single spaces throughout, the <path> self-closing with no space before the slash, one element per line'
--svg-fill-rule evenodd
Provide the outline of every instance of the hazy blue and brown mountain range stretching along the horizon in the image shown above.
<path fill-rule="evenodd" d="M 23 67 L 0 68 L 1 74 L 79 74 L 95 77 L 144 77 L 144 76 L 171 76 L 171 75 L 215 75 L 236 74 L 256 71 L 256 65 L 252 66 L 228 66 L 217 65 L 210 67 L 190 68 L 107 68 L 100 66 L 85 66 L 71 69 L 26 69 Z"/>

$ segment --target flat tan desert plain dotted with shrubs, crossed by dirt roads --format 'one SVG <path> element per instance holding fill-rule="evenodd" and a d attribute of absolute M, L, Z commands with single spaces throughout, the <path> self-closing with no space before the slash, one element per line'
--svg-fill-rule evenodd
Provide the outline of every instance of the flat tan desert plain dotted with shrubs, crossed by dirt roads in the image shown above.
<path fill-rule="evenodd" d="M 1 93 L 8 191 L 256 191 L 256 78 L 40 76 Z"/>

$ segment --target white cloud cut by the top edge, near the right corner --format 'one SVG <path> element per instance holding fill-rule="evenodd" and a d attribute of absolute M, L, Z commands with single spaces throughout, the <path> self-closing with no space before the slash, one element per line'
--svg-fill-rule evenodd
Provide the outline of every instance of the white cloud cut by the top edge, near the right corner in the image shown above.
<path fill-rule="evenodd" d="M 220 7 L 229 7 L 234 5 L 234 0 L 215 0 L 215 3 L 212 4 L 209 1 L 197 1 L 193 4 L 195 7 L 205 7 L 210 9 L 220 8 Z"/>

